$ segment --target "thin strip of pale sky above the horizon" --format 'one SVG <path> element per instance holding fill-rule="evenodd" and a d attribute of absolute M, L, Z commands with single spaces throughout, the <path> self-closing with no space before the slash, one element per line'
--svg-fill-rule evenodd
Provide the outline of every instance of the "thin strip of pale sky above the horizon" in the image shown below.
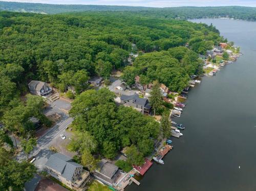
<path fill-rule="evenodd" d="M 0 0 L 3 1 L 3 0 Z M 26 2 L 45 4 L 80 5 L 123 5 L 143 7 L 180 6 L 247 6 L 256 7 L 256 0 L 4 0 L 5 2 Z"/>

